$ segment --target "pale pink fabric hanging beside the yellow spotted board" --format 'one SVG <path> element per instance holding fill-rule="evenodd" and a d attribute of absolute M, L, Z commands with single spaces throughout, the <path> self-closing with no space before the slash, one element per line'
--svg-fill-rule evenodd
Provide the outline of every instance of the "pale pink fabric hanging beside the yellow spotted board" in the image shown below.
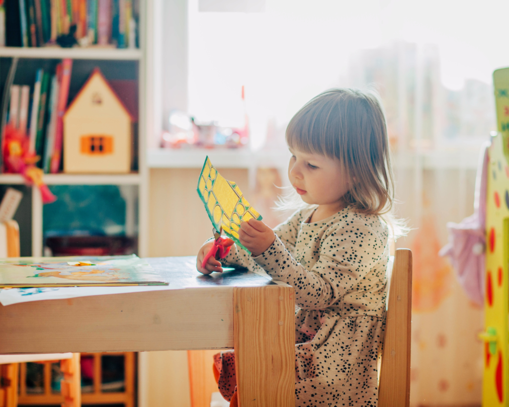
<path fill-rule="evenodd" d="M 458 281 L 467 297 L 479 305 L 484 304 L 486 182 L 489 146 L 489 143 L 483 146 L 477 165 L 474 213 L 460 223 L 447 223 L 449 243 L 439 252 L 441 256 L 449 256 L 456 270 Z"/>

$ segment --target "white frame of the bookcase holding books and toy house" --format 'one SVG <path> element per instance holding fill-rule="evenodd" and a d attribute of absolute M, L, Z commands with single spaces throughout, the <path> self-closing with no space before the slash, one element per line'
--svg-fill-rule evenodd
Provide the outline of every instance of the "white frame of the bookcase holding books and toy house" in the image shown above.
<path fill-rule="evenodd" d="M 138 62 L 138 172 L 123 175 L 116 174 L 45 174 L 48 185 L 133 185 L 138 188 L 138 254 L 147 255 L 147 199 L 148 171 L 146 168 L 146 79 L 144 44 L 146 1 L 140 0 L 140 38 L 139 49 L 117 49 L 101 47 L 0 47 L 0 57 L 19 57 L 21 59 L 55 59 L 98 61 L 136 61 Z M 21 185 L 24 179 L 19 174 L 0 174 L 0 185 Z M 43 203 L 37 187 L 32 187 L 32 255 L 43 254 Z"/>

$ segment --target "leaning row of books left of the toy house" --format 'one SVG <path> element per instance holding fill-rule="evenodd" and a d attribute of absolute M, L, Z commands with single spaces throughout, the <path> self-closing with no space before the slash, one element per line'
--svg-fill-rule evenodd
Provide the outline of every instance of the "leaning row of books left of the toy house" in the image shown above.
<path fill-rule="evenodd" d="M 71 69 L 72 60 L 65 59 L 52 75 L 37 70 L 32 98 L 30 86 L 11 85 L 7 123 L 29 136 L 29 150 L 41 157 L 44 172 L 59 172 Z"/>

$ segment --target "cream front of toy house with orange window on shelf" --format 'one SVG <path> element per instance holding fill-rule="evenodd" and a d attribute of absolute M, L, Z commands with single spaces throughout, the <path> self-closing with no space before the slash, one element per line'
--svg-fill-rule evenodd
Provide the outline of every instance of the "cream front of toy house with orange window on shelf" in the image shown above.
<path fill-rule="evenodd" d="M 64 172 L 129 172 L 131 123 L 131 114 L 96 68 L 64 114 Z"/>

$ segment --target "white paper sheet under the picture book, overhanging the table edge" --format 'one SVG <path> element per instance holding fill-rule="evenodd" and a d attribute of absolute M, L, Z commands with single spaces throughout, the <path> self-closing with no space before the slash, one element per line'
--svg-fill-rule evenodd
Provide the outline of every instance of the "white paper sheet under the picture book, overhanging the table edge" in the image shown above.
<path fill-rule="evenodd" d="M 108 294 L 143 293 L 165 289 L 181 289 L 177 284 L 168 285 L 129 285 L 122 287 L 34 287 L 0 289 L 2 305 L 19 304 L 21 302 L 62 300 L 66 298 L 102 296 Z"/>

